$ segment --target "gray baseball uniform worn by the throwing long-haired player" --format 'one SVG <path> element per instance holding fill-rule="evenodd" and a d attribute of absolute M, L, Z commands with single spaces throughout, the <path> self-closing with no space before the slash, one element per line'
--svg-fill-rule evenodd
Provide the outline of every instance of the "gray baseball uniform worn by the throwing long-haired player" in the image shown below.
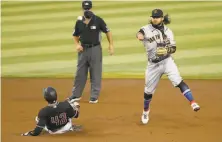
<path fill-rule="evenodd" d="M 176 45 L 173 32 L 164 25 L 165 39 L 161 31 L 154 28 L 152 24 L 143 26 L 141 30 L 144 32 L 145 40 L 143 41 L 143 45 L 148 57 L 144 92 L 147 94 L 154 94 L 157 84 L 163 74 L 166 74 L 172 84 L 177 86 L 182 81 L 182 77 L 180 76 L 172 56 L 170 54 L 167 54 L 163 58 L 156 56 L 158 45 L 164 43 L 164 40 L 168 40 L 172 46 Z"/>

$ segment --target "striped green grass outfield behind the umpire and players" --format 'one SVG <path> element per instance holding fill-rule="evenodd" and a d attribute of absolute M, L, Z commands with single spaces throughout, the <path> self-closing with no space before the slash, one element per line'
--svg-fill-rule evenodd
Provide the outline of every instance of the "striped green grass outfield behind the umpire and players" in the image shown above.
<path fill-rule="evenodd" d="M 135 35 L 158 5 L 172 17 L 169 27 L 177 42 L 174 56 L 182 76 L 222 79 L 222 2 L 134 1 L 93 5 L 114 39 L 115 55 L 110 57 L 103 34 L 104 78 L 144 78 L 146 53 Z M 77 54 L 72 32 L 76 18 L 82 14 L 81 2 L 7 1 L 2 2 L 1 8 L 3 77 L 73 77 Z M 54 65 L 49 66 L 51 62 Z M 37 66 L 32 69 L 34 65 Z"/>

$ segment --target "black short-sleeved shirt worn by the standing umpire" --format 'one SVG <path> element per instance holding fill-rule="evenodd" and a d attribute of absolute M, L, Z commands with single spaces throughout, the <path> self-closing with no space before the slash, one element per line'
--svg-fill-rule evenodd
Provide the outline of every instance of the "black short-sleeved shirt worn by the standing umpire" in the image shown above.
<path fill-rule="evenodd" d="M 105 21 L 96 15 L 93 15 L 88 25 L 85 24 L 83 21 L 83 16 L 82 20 L 76 21 L 73 36 L 80 36 L 80 42 L 82 44 L 100 44 L 101 31 L 103 33 L 109 32 Z"/>

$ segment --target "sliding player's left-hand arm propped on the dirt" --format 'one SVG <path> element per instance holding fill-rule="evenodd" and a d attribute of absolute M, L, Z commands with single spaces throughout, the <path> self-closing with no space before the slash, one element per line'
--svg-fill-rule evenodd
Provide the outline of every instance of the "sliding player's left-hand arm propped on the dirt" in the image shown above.
<path fill-rule="evenodd" d="M 38 136 L 41 134 L 45 126 L 46 126 L 45 115 L 44 111 L 41 110 L 38 114 L 38 122 L 35 129 L 22 134 L 22 136 Z"/>

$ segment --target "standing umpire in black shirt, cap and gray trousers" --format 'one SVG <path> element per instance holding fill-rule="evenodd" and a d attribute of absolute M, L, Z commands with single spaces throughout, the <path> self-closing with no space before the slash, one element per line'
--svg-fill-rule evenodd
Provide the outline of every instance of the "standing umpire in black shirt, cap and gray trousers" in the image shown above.
<path fill-rule="evenodd" d="M 88 70 L 91 82 L 91 97 L 89 103 L 97 103 L 101 90 L 102 79 L 102 47 L 101 31 L 109 41 L 109 54 L 113 55 L 113 40 L 105 21 L 92 11 L 92 1 L 83 1 L 84 16 L 79 16 L 73 32 L 76 50 L 78 52 L 77 72 L 72 89 L 71 101 L 81 99 L 87 81 Z"/>

